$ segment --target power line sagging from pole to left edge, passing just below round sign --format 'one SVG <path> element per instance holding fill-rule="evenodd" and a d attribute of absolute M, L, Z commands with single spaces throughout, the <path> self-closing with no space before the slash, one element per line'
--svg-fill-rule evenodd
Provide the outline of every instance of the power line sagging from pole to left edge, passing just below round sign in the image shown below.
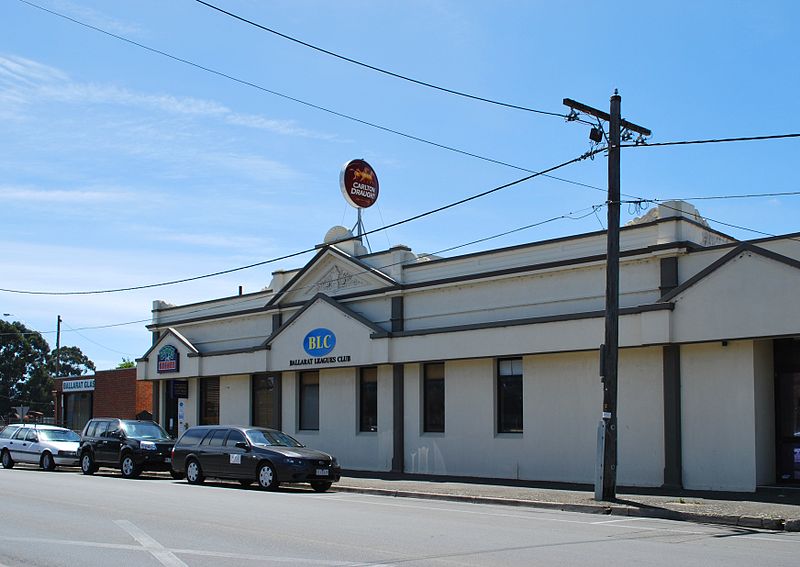
<path fill-rule="evenodd" d="M 20 0 L 20 1 L 24 1 L 24 0 Z M 406 219 L 396 221 L 394 223 L 388 224 L 388 225 L 383 226 L 381 228 L 368 230 L 368 231 L 362 233 L 361 236 L 367 236 L 367 235 L 370 235 L 370 234 L 374 234 L 376 232 L 380 232 L 382 230 L 388 230 L 390 228 L 394 228 L 396 226 L 400 226 L 402 224 L 406 224 L 406 223 L 409 223 L 409 222 L 412 222 L 412 221 L 415 221 L 415 220 L 419 220 L 421 218 L 424 218 L 424 217 L 427 217 L 427 216 L 430 216 L 430 215 L 445 211 L 447 209 L 451 209 L 453 207 L 456 207 L 456 206 L 459 206 L 459 205 L 463 205 L 464 203 L 468 203 L 470 201 L 474 201 L 475 199 L 479 199 L 481 197 L 485 197 L 487 195 L 491 195 L 492 193 L 496 193 L 497 191 L 501 191 L 503 189 L 507 189 L 509 187 L 513 187 L 514 185 L 519 185 L 520 183 L 523 183 L 525 181 L 529 181 L 529 180 L 533 179 L 534 177 L 540 177 L 540 176 L 546 175 L 547 173 L 549 173 L 551 171 L 556 171 L 558 169 L 561 169 L 561 168 L 566 167 L 568 165 L 571 165 L 573 163 L 577 163 L 579 161 L 583 161 L 583 160 L 591 157 L 592 155 L 600 153 L 602 151 L 605 151 L 605 148 L 598 148 L 598 149 L 592 150 L 590 152 L 586 152 L 586 153 L 584 153 L 584 154 L 582 154 L 582 155 L 580 155 L 580 156 L 578 156 L 576 158 L 572 158 L 572 159 L 567 160 L 565 162 L 562 162 L 562 163 L 560 163 L 558 165 L 554 165 L 554 166 L 549 167 L 549 168 L 547 168 L 547 169 L 545 169 L 543 171 L 532 173 L 531 175 L 528 175 L 526 177 L 522 177 L 522 178 L 517 179 L 515 181 L 511 181 L 509 183 L 504 183 L 503 185 L 499 185 L 497 187 L 493 187 L 492 189 L 488 189 L 486 191 L 482 191 L 481 193 L 477 193 L 475 195 L 471 195 L 469 197 L 465 197 L 463 199 L 459 199 L 458 201 L 454 201 L 454 202 L 449 203 L 447 205 L 442 205 L 441 207 L 437 207 L 435 209 L 431 209 L 431 210 L 425 211 L 423 213 L 419 213 L 417 215 L 408 217 Z M 349 238 L 347 240 L 354 240 L 356 238 L 357 237 L 354 236 L 354 237 Z M 169 281 L 153 283 L 153 284 L 144 284 L 144 285 L 138 285 L 138 286 L 129 286 L 129 287 L 121 287 L 121 288 L 113 288 L 113 289 L 102 289 L 102 290 L 90 290 L 90 291 L 31 291 L 31 290 L 0 288 L 0 292 L 17 293 L 17 294 L 23 294 L 23 295 L 99 295 L 99 294 L 106 294 L 106 293 L 119 293 L 119 292 L 134 291 L 134 290 L 140 290 L 140 289 L 150 289 L 150 288 L 154 288 L 154 287 L 164 287 L 164 286 L 168 286 L 168 285 L 175 285 L 175 284 L 179 284 L 179 283 L 186 283 L 186 282 L 190 282 L 190 281 L 196 281 L 196 280 L 201 280 L 201 279 L 205 279 L 205 278 L 211 278 L 211 277 L 221 276 L 221 275 L 225 275 L 225 274 L 231 274 L 233 272 L 239 272 L 239 271 L 242 271 L 242 270 L 247 270 L 247 269 L 255 268 L 255 267 L 258 267 L 258 266 L 264 266 L 266 264 L 271 264 L 271 263 L 278 262 L 278 261 L 281 261 L 281 260 L 286 260 L 288 258 L 294 258 L 296 256 L 301 256 L 303 254 L 307 254 L 309 252 L 313 252 L 314 250 L 316 250 L 316 247 L 306 248 L 306 249 L 300 250 L 298 252 L 292 252 L 290 254 L 285 254 L 283 256 L 279 256 L 279 257 L 276 257 L 276 258 L 271 258 L 269 260 L 263 260 L 263 261 L 260 261 L 260 262 L 254 262 L 252 264 L 247 264 L 245 266 L 239 266 L 239 267 L 230 268 L 230 269 L 227 269 L 227 270 L 219 270 L 217 272 L 211 272 L 211 273 L 203 274 L 203 275 L 200 275 L 200 276 L 192 276 L 192 277 L 188 277 L 188 278 L 169 280 Z"/>

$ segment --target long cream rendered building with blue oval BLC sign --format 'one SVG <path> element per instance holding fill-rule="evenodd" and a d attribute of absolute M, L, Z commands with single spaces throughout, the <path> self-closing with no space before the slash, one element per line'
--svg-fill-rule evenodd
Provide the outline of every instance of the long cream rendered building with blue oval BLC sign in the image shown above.
<path fill-rule="evenodd" d="M 137 369 L 162 423 L 280 427 L 347 469 L 594 482 L 605 232 L 453 258 L 343 236 L 258 293 L 154 302 Z M 618 483 L 800 481 L 797 238 L 672 202 L 621 250 Z"/>

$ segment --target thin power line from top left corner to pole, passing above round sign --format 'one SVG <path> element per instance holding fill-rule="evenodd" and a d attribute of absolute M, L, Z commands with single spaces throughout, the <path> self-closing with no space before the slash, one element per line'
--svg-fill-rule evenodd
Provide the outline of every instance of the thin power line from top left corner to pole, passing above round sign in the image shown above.
<path fill-rule="evenodd" d="M 449 146 L 447 144 L 441 144 L 439 142 L 434 142 L 432 140 L 428 140 L 428 139 L 422 138 L 420 136 L 415 136 L 413 134 L 409 134 L 409 133 L 403 132 L 401 130 L 395 130 L 394 128 L 389 128 L 388 126 L 382 126 L 382 125 L 377 124 L 375 122 L 370 122 L 368 120 L 363 120 L 361 118 L 358 118 L 358 117 L 350 115 L 350 114 L 345 114 L 345 113 L 339 112 L 337 110 L 333 110 L 333 109 L 330 109 L 330 108 L 327 108 L 327 107 L 324 107 L 324 106 L 320 106 L 318 104 L 314 104 L 312 102 L 308 102 L 308 101 L 305 101 L 305 100 L 302 100 L 302 99 L 299 99 L 299 98 L 296 98 L 296 97 L 293 97 L 293 96 L 290 96 L 290 95 L 287 95 L 287 94 L 284 94 L 284 93 L 281 93 L 281 92 L 278 92 L 278 91 L 275 91 L 275 90 L 272 90 L 272 89 L 268 89 L 266 87 L 263 87 L 263 86 L 261 86 L 261 85 L 259 85 L 257 83 L 253 83 L 253 82 L 248 81 L 246 79 L 240 79 L 240 78 L 235 77 L 233 75 L 229 75 L 228 73 L 225 73 L 223 71 L 218 71 L 218 70 L 213 69 L 211 67 L 207 67 L 205 65 L 200 65 L 199 63 L 194 63 L 193 61 L 190 61 L 188 59 L 184 59 L 182 57 L 178 57 L 177 55 L 172 55 L 171 53 L 168 53 L 166 51 L 162 51 L 160 49 L 156 49 L 154 47 L 150 47 L 150 46 L 145 45 L 143 43 L 140 43 L 138 41 L 134 41 L 132 39 L 128 39 L 127 37 L 124 37 L 122 35 L 112 33 L 110 31 L 104 30 L 104 29 L 99 28 L 97 26 L 93 26 L 91 24 L 87 24 L 86 22 L 82 22 L 80 20 L 77 20 L 77 19 L 72 18 L 70 16 L 67 16 L 65 14 L 62 14 L 60 12 L 56 12 L 55 10 L 50 10 L 49 8 L 45 8 L 43 6 L 39 6 L 38 4 L 35 4 L 35 3 L 30 2 L 28 0 L 19 0 L 19 2 L 22 2 L 23 4 L 27 4 L 28 6 L 30 6 L 32 8 L 37 8 L 39 10 L 42 10 L 43 12 L 47 12 L 48 14 L 52 14 L 54 16 L 58 16 L 59 18 L 63 18 L 65 20 L 67 20 L 67 21 L 70 21 L 72 23 L 78 24 L 78 25 L 83 26 L 85 28 L 88 28 L 88 29 L 94 30 L 96 32 L 102 33 L 102 34 L 107 35 L 109 37 L 113 37 L 114 39 L 118 39 L 120 41 L 124 41 L 125 43 L 128 43 L 130 45 L 134 45 L 136 47 L 139 47 L 139 48 L 144 49 L 146 51 L 149 51 L 151 53 L 155 53 L 157 55 L 161 55 L 163 57 L 167 57 L 169 59 L 172 59 L 173 61 L 177 61 L 179 63 L 183 63 L 184 65 L 189 65 L 190 67 L 194 67 L 196 69 L 200 69 L 201 71 L 205 71 L 207 73 L 211 73 L 213 75 L 217 75 L 219 77 L 223 77 L 225 79 L 229 79 L 229 80 L 234 81 L 236 83 L 239 83 L 241 85 L 257 89 L 259 91 L 271 94 L 273 96 L 277 96 L 277 97 L 283 98 L 285 100 L 290 100 L 292 102 L 296 102 L 297 104 L 302 104 L 303 106 L 307 106 L 307 107 L 313 108 L 315 110 L 326 112 L 328 114 L 331 114 L 333 116 L 337 116 L 339 118 L 344 118 L 345 120 L 350 120 L 352 122 L 356 122 L 356 123 L 362 124 L 364 126 L 369 126 L 370 128 L 374 128 L 376 130 L 381 130 L 382 132 L 387 132 L 389 134 L 394 134 L 396 136 L 400 136 L 400 137 L 406 138 L 408 140 L 413 140 L 415 142 L 420 142 L 422 144 L 427 144 L 429 146 L 433 146 L 433 147 L 436 147 L 436 148 L 439 148 L 439 149 L 442 149 L 442 150 L 447 150 L 449 152 L 453 152 L 453 153 L 460 154 L 460 155 L 463 155 L 463 156 L 479 159 L 479 160 L 482 160 L 482 161 L 485 161 L 485 162 L 488 162 L 488 163 L 494 163 L 496 165 L 502 165 L 504 167 L 517 169 L 519 171 L 525 171 L 527 173 L 537 173 L 535 170 L 532 170 L 532 169 L 529 169 L 529 168 L 526 168 L 526 167 L 514 165 L 512 163 L 508 163 L 508 162 L 505 162 L 505 161 L 502 161 L 502 160 L 490 158 L 490 157 L 487 157 L 487 156 L 482 156 L 482 155 L 476 154 L 474 152 L 469 152 L 469 151 L 466 151 L 466 150 L 462 150 L 462 149 L 456 148 L 455 146 Z M 547 177 L 550 177 L 551 179 L 554 179 L 556 181 L 561 181 L 562 183 L 570 183 L 572 185 L 577 185 L 577 186 L 580 186 L 580 187 L 587 187 L 587 188 L 590 188 L 590 189 L 596 189 L 598 191 L 605 191 L 605 189 L 601 189 L 601 188 L 595 187 L 593 185 L 588 185 L 586 183 L 580 183 L 578 181 L 572 181 L 572 180 L 569 180 L 569 179 L 564 179 L 562 177 L 556 177 L 556 176 L 547 176 Z"/>

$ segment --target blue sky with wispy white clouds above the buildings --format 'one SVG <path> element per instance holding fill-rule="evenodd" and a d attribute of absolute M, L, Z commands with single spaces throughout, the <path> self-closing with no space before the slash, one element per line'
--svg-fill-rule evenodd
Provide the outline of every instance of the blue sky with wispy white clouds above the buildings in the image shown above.
<path fill-rule="evenodd" d="M 36 0 L 48 9 L 266 89 L 439 144 L 539 170 L 589 149 L 587 127 L 413 85 L 333 59 L 193 0 Z M 794 1 L 556 2 L 217 0 L 220 7 L 366 63 L 517 105 L 573 98 L 652 141 L 799 132 Z M 614 28 L 616 26 L 616 28 Z M 380 228 L 525 175 L 274 96 L 5 0 L 0 8 L 0 287 L 82 291 L 226 270 L 313 247 L 355 224 L 338 187 L 365 158 Z M 798 190 L 800 140 L 632 148 L 622 191 L 644 198 Z M 558 172 L 605 187 L 597 156 Z M 437 252 L 579 212 L 603 191 L 537 178 L 370 237 Z M 798 231 L 800 197 L 698 201 L 710 219 Z M 623 207 L 622 222 L 635 216 Z M 737 238 L 757 233 L 711 223 Z M 599 230 L 605 210 L 471 252 Z M 0 315 L 77 345 L 98 365 L 144 353 L 151 303 L 267 286 L 297 257 L 221 277 L 82 296 L 0 292 Z M 77 330 L 74 330 L 77 329 Z"/>

